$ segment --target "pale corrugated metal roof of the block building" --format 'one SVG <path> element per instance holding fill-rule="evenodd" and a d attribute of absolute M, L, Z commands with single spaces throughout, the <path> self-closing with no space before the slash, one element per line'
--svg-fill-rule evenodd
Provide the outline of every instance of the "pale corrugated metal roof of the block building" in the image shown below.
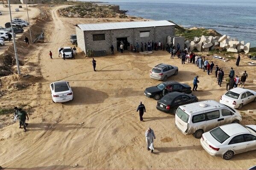
<path fill-rule="evenodd" d="M 167 20 L 157 21 L 135 21 L 135 22 L 116 22 L 116 23 L 91 23 L 91 24 L 78 24 L 82 31 L 98 31 L 109 29 L 129 29 L 129 28 L 145 28 L 152 26 L 174 26 Z"/>

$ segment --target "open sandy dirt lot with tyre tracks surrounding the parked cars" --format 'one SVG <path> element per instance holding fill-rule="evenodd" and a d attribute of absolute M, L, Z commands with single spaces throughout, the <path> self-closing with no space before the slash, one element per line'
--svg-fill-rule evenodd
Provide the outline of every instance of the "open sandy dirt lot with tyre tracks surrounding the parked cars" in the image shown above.
<path fill-rule="evenodd" d="M 97 72 L 93 71 L 91 58 L 79 52 L 76 59 L 63 61 L 58 57 L 60 46 L 71 46 L 69 35 L 78 23 L 95 23 L 120 19 L 61 18 L 56 13 L 59 6 L 51 9 L 53 20 L 46 28 L 45 43 L 29 54 L 28 61 L 38 64 L 40 73 L 29 72 L 41 79 L 27 79 L 31 86 L 23 90 L 5 89 L 9 93 L 1 97 L 1 107 L 17 105 L 32 108 L 26 133 L 18 128 L 18 122 L 0 128 L 0 165 L 8 169 L 247 169 L 256 162 L 256 151 L 235 155 L 230 161 L 212 157 L 192 135 L 183 135 L 174 123 L 174 115 L 156 109 L 156 101 L 144 96 L 144 89 L 161 83 L 149 78 L 150 69 L 159 63 L 179 67 L 177 76 L 168 80 L 187 83 L 199 75 L 198 91 L 193 92 L 200 101 L 219 101 L 226 91 L 219 87 L 215 76 L 207 75 L 190 63 L 170 59 L 165 51 L 152 55 L 131 52 L 95 58 Z M 53 52 L 51 60 L 48 53 Z M 79 51 L 79 49 L 78 49 Z M 211 57 L 208 57 L 211 60 Z M 256 90 L 256 68 L 247 66 L 245 57 L 241 66 L 235 61 L 224 63 L 212 59 L 224 69 L 231 66 L 235 74 L 248 72 L 247 86 Z M 23 70 L 25 73 L 26 70 Z M 10 80 L 23 80 L 13 75 Z M 56 104 L 50 96 L 50 82 L 69 81 L 74 101 Z M 7 81 L 7 80 L 5 80 Z M 8 82 L 8 81 L 7 81 Z M 225 83 L 225 82 L 224 82 Z M 142 101 L 147 109 L 144 122 L 136 112 Z M 254 109 L 254 114 L 247 114 Z M 256 104 L 241 109 L 241 124 L 256 124 Z M 1 117 L 11 122 L 12 115 Z M 82 122 L 84 122 L 82 124 Z M 156 133 L 155 154 L 147 151 L 144 133 L 151 127 Z"/>

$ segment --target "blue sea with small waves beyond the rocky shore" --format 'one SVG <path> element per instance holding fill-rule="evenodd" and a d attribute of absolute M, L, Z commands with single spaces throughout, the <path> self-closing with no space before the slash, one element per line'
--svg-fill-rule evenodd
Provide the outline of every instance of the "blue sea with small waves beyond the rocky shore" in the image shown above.
<path fill-rule="evenodd" d="M 256 47 L 256 0 L 100 0 L 127 14 L 171 20 L 186 28 L 204 27 Z"/>

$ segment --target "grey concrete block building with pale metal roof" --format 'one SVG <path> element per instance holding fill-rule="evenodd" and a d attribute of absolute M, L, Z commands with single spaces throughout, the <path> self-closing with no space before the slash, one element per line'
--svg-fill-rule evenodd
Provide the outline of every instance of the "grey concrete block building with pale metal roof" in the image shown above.
<path fill-rule="evenodd" d="M 175 35 L 175 24 L 167 20 L 136 21 L 118 23 L 93 23 L 76 25 L 77 46 L 85 52 L 87 50 L 110 53 L 110 46 L 115 51 L 121 41 L 133 46 L 157 41 L 165 43 L 168 36 Z"/>

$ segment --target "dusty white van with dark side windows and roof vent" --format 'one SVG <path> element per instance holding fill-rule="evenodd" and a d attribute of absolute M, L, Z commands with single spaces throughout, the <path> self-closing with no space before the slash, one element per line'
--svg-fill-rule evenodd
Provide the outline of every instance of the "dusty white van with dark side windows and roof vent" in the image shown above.
<path fill-rule="evenodd" d="M 236 109 L 212 100 L 179 106 L 175 114 L 176 127 L 185 135 L 194 134 L 195 138 L 201 138 L 203 133 L 215 127 L 241 120 Z"/>

